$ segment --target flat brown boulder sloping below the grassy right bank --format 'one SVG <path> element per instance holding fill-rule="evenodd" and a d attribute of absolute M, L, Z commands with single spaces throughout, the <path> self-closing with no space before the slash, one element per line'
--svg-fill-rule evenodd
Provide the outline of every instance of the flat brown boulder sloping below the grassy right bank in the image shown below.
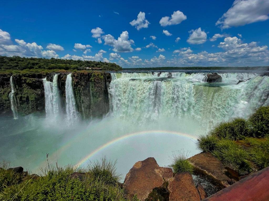
<path fill-rule="evenodd" d="M 222 189 L 239 180 L 239 174 L 231 167 L 224 165 L 210 153 L 200 153 L 189 158 L 195 167 L 195 172 L 213 178 Z"/>

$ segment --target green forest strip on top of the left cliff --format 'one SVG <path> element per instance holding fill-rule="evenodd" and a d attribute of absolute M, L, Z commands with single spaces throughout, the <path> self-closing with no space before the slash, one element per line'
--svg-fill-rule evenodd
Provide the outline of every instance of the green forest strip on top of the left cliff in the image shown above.
<path fill-rule="evenodd" d="M 102 68 L 102 70 L 122 70 L 121 66 L 114 63 L 101 61 L 81 61 L 72 59 L 45 59 L 25 58 L 19 56 L 0 56 L 0 69 L 3 70 L 25 70 L 25 69 L 62 69 L 62 70 L 83 70 L 85 68 Z"/>

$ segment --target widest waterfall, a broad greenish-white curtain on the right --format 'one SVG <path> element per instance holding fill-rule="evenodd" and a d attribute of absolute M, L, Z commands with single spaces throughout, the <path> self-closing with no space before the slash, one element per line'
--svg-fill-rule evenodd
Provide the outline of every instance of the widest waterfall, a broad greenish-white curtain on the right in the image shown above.
<path fill-rule="evenodd" d="M 268 76 L 220 75 L 222 83 L 206 83 L 204 73 L 112 73 L 110 105 L 115 117 L 133 122 L 172 118 L 195 121 L 206 129 L 269 105 Z M 246 81 L 237 84 L 239 80 Z"/>

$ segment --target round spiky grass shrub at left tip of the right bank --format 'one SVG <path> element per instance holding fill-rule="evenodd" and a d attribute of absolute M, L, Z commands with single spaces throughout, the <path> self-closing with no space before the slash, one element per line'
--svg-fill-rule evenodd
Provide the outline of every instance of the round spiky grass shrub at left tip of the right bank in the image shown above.
<path fill-rule="evenodd" d="M 212 152 L 216 147 L 217 141 L 218 139 L 214 135 L 201 135 L 196 141 L 196 146 L 203 152 Z"/>

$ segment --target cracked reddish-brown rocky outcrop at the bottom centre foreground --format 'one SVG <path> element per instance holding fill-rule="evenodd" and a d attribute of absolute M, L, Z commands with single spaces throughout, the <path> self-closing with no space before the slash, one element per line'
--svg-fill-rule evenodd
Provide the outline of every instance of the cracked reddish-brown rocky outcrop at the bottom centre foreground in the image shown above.
<path fill-rule="evenodd" d="M 190 200 L 205 198 L 203 187 L 194 184 L 192 176 L 178 173 L 173 176 L 171 168 L 163 168 L 154 158 L 138 161 L 127 173 L 123 187 L 127 197 L 139 200 Z"/>

